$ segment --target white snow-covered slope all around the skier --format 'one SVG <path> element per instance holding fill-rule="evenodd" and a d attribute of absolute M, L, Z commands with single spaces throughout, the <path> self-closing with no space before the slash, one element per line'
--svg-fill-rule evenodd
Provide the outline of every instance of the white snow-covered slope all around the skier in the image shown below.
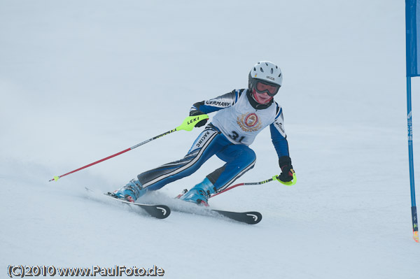
<path fill-rule="evenodd" d="M 404 1 L 0 0 L 0 35 L 1 278 L 9 265 L 155 265 L 163 278 L 420 278 Z M 283 71 L 275 99 L 297 184 L 210 200 L 258 210 L 259 224 L 178 212 L 157 220 L 85 191 L 118 189 L 181 159 L 202 129 L 48 182 L 173 129 L 197 101 L 246 87 L 260 60 Z M 419 162 L 416 78 L 412 90 Z M 236 183 L 279 174 L 269 129 L 251 148 L 257 163 Z M 222 164 L 211 158 L 148 199 L 169 202 Z"/>

